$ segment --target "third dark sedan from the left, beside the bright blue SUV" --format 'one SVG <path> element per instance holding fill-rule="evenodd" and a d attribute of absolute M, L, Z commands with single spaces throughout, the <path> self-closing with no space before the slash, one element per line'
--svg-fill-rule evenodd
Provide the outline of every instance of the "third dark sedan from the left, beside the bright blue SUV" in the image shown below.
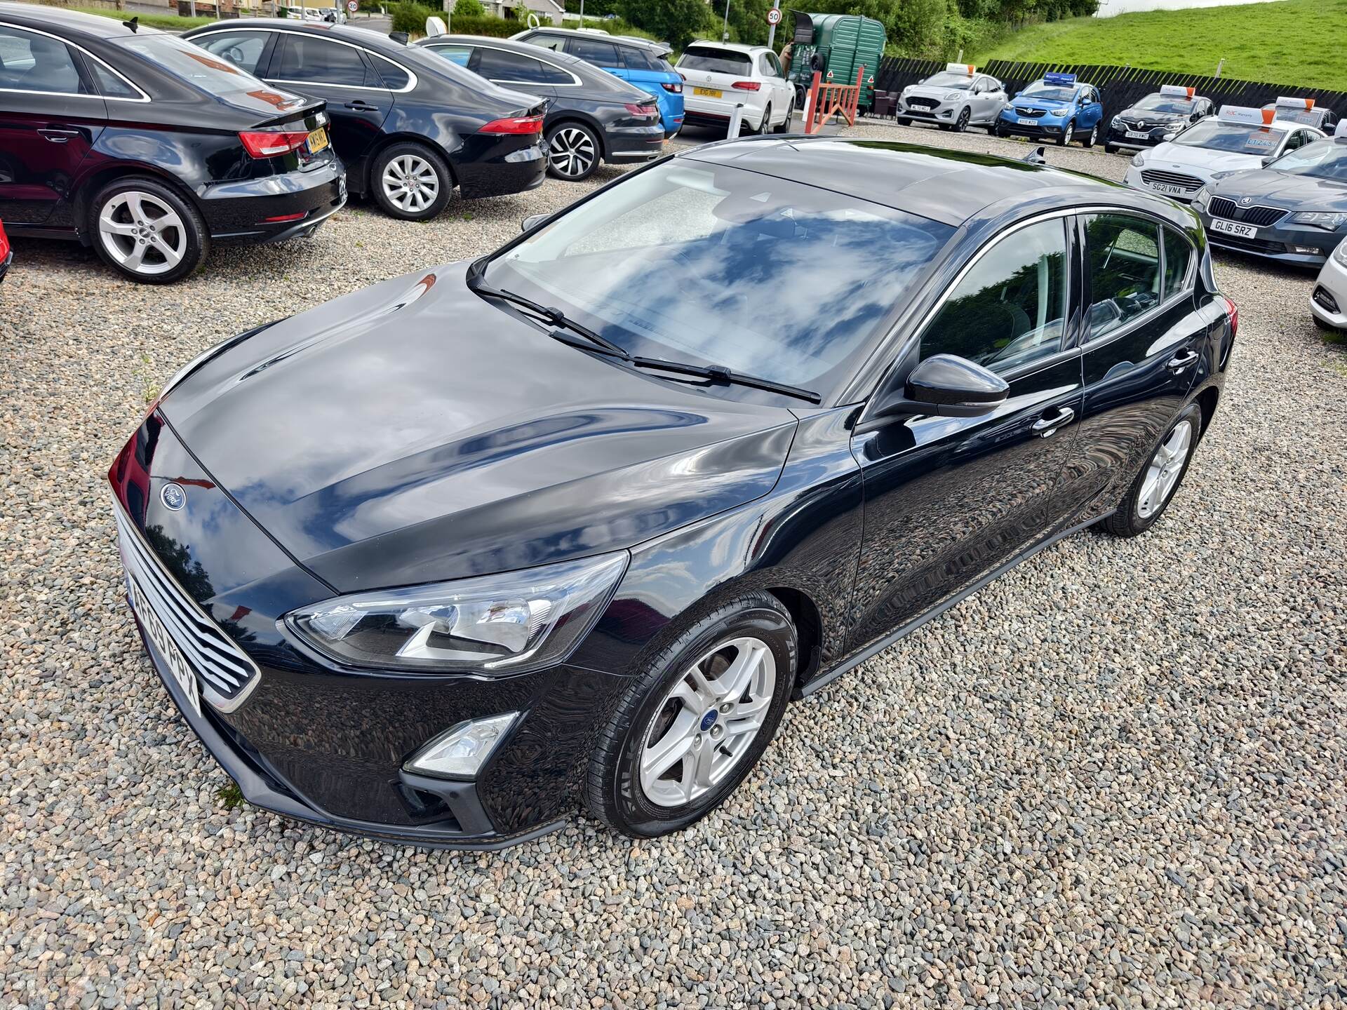
<path fill-rule="evenodd" d="M 664 154 L 655 98 L 583 59 L 475 35 L 436 35 L 416 44 L 502 88 L 547 98 L 548 171 L 559 179 L 585 179 L 602 162 L 632 164 Z"/>

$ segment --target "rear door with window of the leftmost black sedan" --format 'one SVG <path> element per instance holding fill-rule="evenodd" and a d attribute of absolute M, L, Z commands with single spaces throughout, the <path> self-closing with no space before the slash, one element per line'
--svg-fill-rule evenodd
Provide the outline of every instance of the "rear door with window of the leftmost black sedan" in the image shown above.
<path fill-rule="evenodd" d="M 0 24 L 0 221 L 71 224 L 70 184 L 106 123 L 66 43 Z"/>

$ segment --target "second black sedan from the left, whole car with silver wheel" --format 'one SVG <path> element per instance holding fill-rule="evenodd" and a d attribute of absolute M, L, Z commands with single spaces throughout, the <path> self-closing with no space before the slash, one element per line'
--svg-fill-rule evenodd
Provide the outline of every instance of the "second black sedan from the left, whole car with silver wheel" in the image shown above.
<path fill-rule="evenodd" d="M 238 19 L 183 35 L 249 74 L 322 98 L 346 184 L 427 221 L 463 199 L 540 186 L 544 102 L 415 46 L 327 22 Z"/>

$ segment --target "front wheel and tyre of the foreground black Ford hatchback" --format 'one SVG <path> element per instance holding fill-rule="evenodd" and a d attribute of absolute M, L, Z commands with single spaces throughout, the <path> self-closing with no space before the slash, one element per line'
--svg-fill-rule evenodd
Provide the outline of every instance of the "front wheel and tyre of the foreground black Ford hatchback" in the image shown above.
<path fill-rule="evenodd" d="M 653 656 L 599 729 L 585 807 L 613 831 L 657 838 L 715 809 L 772 742 L 797 640 L 780 601 L 717 606 Z"/>

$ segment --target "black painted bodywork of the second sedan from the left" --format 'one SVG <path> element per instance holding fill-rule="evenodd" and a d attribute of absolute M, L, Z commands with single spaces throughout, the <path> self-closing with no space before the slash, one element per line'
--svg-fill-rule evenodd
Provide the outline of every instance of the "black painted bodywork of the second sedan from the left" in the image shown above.
<path fill-rule="evenodd" d="M 199 44 L 211 36 L 237 32 L 265 35 L 257 77 L 326 101 L 333 117 L 333 147 L 346 163 L 346 183 L 353 193 L 370 190 L 374 158 L 400 141 L 424 144 L 445 158 L 466 199 L 521 193 L 543 182 L 547 158 L 537 133 L 478 132 L 498 119 L 541 112 L 541 102 L 533 94 L 498 88 L 418 46 L 404 46 L 348 24 L 237 19 L 194 28 L 183 38 Z M 283 78 L 282 47 L 295 36 L 357 47 L 365 63 L 364 82 L 352 86 Z M 228 53 L 221 55 L 232 58 Z M 396 86 L 400 82 L 389 74 L 397 71 L 376 57 L 409 71 L 409 89 Z"/>

